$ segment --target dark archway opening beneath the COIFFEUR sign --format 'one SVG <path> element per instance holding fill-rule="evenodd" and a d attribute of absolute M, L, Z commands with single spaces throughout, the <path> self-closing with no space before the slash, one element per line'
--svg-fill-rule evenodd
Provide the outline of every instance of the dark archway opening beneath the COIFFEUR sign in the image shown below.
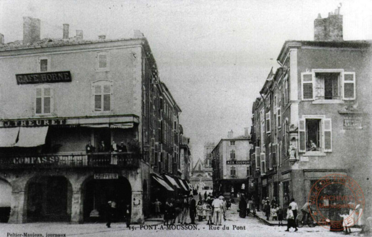
<path fill-rule="evenodd" d="M 103 222 L 106 220 L 108 201 L 117 204 L 115 218 L 124 220 L 124 210 L 127 204 L 131 206 L 132 187 L 127 178 L 94 179 L 93 176 L 82 184 L 82 203 L 84 222 Z"/>

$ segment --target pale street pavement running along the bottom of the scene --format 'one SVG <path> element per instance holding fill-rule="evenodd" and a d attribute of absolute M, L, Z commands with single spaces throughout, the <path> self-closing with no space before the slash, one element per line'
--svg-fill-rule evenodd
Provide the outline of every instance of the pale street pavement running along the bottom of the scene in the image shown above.
<path fill-rule="evenodd" d="M 298 232 L 284 232 L 286 227 L 269 226 L 255 217 L 249 216 L 240 218 L 237 213 L 237 203 L 232 204 L 226 214 L 227 220 L 222 220 L 222 226 L 208 226 L 206 221 L 197 222 L 195 226 L 182 226 L 193 230 L 167 230 L 161 221 L 146 221 L 144 225 L 131 225 L 131 229 L 126 228 L 125 223 L 113 223 L 110 229 L 105 223 L 98 224 L 67 224 L 67 223 L 27 223 L 27 224 L 0 224 L 0 237 L 16 237 L 14 234 L 42 234 L 43 237 L 51 237 L 48 234 L 61 234 L 63 236 L 83 236 L 83 237 L 307 237 L 307 236 L 342 236 L 343 233 L 331 233 L 323 227 L 299 228 Z M 190 219 L 188 219 L 188 223 Z M 196 228 L 196 230 L 194 229 Z M 218 229 L 217 229 L 218 228 Z M 212 230 L 213 229 L 213 230 Z M 360 229 L 352 228 L 352 236 L 358 235 Z M 21 237 L 18 236 L 18 237 Z M 30 236 L 32 237 L 32 236 Z M 35 235 L 34 235 L 35 237 Z M 55 236 L 57 237 L 57 236 Z"/>

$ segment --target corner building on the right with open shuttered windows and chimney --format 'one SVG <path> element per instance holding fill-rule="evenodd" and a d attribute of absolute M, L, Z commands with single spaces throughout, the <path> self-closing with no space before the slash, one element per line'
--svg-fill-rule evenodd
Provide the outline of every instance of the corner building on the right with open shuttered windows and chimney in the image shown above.
<path fill-rule="evenodd" d="M 284 42 L 252 106 L 256 197 L 301 206 L 319 178 L 338 173 L 354 178 L 369 203 L 371 41 L 342 40 L 339 9 L 314 25 L 314 41 Z"/>

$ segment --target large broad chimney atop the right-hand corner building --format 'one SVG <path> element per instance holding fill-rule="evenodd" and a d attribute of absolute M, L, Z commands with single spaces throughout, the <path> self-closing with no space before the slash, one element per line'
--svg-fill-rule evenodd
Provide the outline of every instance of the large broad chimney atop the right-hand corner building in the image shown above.
<path fill-rule="evenodd" d="M 342 37 L 342 15 L 340 7 L 333 12 L 328 13 L 327 18 L 318 18 L 314 20 L 314 41 L 343 41 Z"/>

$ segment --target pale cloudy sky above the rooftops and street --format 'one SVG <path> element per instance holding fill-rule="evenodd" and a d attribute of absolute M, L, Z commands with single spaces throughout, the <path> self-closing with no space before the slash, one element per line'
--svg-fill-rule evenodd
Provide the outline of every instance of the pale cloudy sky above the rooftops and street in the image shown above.
<path fill-rule="evenodd" d="M 42 38 L 62 38 L 63 23 L 84 39 L 140 30 L 183 111 L 195 163 L 205 142 L 244 133 L 284 41 L 313 40 L 318 13 L 340 2 L 344 40 L 372 40 L 371 0 L 0 0 L 0 33 L 21 40 L 23 16 L 41 19 Z"/>

